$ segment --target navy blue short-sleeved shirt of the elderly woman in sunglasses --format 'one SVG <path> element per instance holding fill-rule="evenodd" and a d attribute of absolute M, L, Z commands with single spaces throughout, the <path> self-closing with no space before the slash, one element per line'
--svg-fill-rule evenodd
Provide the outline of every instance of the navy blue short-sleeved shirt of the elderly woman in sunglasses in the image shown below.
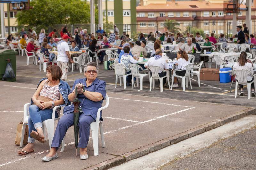
<path fill-rule="evenodd" d="M 92 84 L 89 87 L 87 87 L 86 78 L 76 79 L 70 93 L 73 92 L 76 84 L 78 84 L 78 83 L 82 83 L 85 86 L 86 91 L 98 92 L 103 96 L 103 100 L 105 99 L 105 97 L 106 97 L 106 89 L 105 89 L 106 82 L 105 81 L 99 80 L 98 78 L 96 78 L 92 82 Z M 103 100 L 95 102 L 95 101 L 92 101 L 92 100 L 88 99 L 87 97 L 85 97 L 84 94 L 78 94 L 78 100 L 81 101 L 80 107 L 82 108 L 84 115 L 91 115 L 96 120 L 98 109 L 100 107 L 102 107 Z M 65 115 L 65 114 L 68 114 L 71 112 L 74 112 L 74 104 L 73 103 L 70 106 L 64 107 L 63 114 Z M 101 115 L 102 115 L 102 111 L 100 112 L 100 118 L 101 118 Z"/>

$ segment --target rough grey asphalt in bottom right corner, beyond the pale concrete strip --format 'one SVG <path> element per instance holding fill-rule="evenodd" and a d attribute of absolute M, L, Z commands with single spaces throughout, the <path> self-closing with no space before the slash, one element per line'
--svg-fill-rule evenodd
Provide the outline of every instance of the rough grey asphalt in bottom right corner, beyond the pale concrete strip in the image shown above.
<path fill-rule="evenodd" d="M 172 161 L 158 170 L 178 169 L 256 169 L 256 129 L 245 130 L 220 140 L 183 158 Z"/>

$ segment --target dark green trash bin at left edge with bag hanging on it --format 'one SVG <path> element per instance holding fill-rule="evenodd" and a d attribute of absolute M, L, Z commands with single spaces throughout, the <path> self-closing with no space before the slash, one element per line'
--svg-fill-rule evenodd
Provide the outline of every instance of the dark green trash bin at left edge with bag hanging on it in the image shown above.
<path fill-rule="evenodd" d="M 14 74 L 16 76 L 16 54 L 17 54 L 17 51 L 13 51 L 9 49 L 0 50 L 0 80 L 2 80 L 4 76 L 8 59 L 10 59 L 12 68 L 14 70 Z M 16 78 L 6 78 L 6 81 L 16 81 Z"/>

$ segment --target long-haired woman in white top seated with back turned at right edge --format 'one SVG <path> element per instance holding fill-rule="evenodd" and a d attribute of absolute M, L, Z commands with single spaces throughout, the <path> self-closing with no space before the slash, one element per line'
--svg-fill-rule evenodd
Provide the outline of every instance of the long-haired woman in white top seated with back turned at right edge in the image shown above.
<path fill-rule="evenodd" d="M 247 54 L 246 52 L 241 52 L 240 57 L 238 58 L 238 61 L 234 64 L 233 70 L 248 70 L 252 73 L 253 75 L 253 66 L 252 66 L 252 62 L 250 60 L 247 60 Z M 248 74 L 247 77 L 247 82 L 250 83 L 254 80 L 254 78 Z M 243 96 L 244 95 L 244 89 L 243 89 L 243 85 L 240 85 L 240 93 L 239 96 Z M 255 95 L 255 91 L 254 91 L 254 84 L 251 84 L 251 94 L 252 96 L 256 96 Z"/>

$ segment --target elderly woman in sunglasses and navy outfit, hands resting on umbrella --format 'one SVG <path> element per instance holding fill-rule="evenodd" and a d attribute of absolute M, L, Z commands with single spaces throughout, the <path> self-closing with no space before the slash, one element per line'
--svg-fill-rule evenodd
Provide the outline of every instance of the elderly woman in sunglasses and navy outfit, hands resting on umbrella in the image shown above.
<path fill-rule="evenodd" d="M 79 108 L 79 143 L 80 159 L 88 159 L 87 144 L 90 136 L 90 124 L 95 122 L 97 111 L 101 107 L 106 96 L 106 82 L 99 80 L 98 66 L 95 62 L 89 62 L 84 67 L 85 78 L 76 79 L 71 92 L 68 95 L 69 101 L 75 99 L 75 87 L 77 87 L 78 99 L 81 101 Z M 85 91 L 83 91 L 83 86 Z M 55 134 L 52 140 L 50 153 L 48 153 L 42 160 L 45 162 L 58 158 L 57 150 L 66 135 L 69 127 L 74 124 L 74 104 L 64 108 L 64 115 L 60 118 Z M 101 118 L 100 113 L 100 119 Z"/>

